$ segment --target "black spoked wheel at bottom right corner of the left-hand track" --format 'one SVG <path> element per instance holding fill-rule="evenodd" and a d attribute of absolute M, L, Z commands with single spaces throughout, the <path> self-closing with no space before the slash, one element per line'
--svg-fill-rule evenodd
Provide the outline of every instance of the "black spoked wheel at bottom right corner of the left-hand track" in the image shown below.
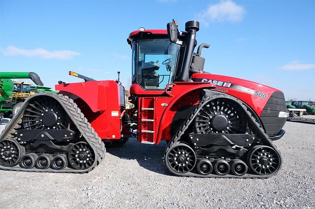
<path fill-rule="evenodd" d="M 95 154 L 88 143 L 78 142 L 70 148 L 68 158 L 74 169 L 84 170 L 93 165 Z"/>

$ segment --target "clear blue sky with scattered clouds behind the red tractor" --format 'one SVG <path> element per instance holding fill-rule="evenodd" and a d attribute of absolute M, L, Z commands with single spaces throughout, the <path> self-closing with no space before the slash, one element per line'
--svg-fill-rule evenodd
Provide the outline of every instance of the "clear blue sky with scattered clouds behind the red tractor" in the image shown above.
<path fill-rule="evenodd" d="M 131 74 L 128 34 L 200 21 L 205 70 L 315 100 L 314 0 L 0 0 L 0 71 L 32 71 L 46 86 Z"/>

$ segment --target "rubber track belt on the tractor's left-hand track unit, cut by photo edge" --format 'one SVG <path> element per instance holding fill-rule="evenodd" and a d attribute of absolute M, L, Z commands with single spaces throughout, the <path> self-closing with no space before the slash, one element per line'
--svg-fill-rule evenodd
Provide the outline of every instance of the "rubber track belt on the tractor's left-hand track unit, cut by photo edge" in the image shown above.
<path fill-rule="evenodd" d="M 106 149 L 105 145 L 102 142 L 101 138 L 97 135 L 91 124 L 85 118 L 84 114 L 81 112 L 80 108 L 77 104 L 67 96 L 57 95 L 57 94 L 49 94 L 49 93 L 38 93 L 31 97 L 29 97 L 21 107 L 20 111 L 17 115 L 15 115 L 12 120 L 8 123 L 5 129 L 2 131 L 0 135 L 0 141 L 6 138 L 13 138 L 15 130 L 19 130 L 21 126 L 19 123 L 22 122 L 22 117 L 26 106 L 29 104 L 32 99 L 40 96 L 48 96 L 56 99 L 64 108 L 71 121 L 74 123 L 76 128 L 80 131 L 80 133 L 85 138 L 86 142 L 91 146 L 95 153 L 95 161 L 94 164 L 85 170 L 76 170 L 65 168 L 63 170 L 54 170 L 54 169 L 24 169 L 20 168 L 18 165 L 14 167 L 4 167 L 0 165 L 0 169 L 2 170 L 12 170 L 12 171 L 30 171 L 30 172 L 52 172 L 52 173 L 87 173 L 93 170 L 105 156 Z"/>

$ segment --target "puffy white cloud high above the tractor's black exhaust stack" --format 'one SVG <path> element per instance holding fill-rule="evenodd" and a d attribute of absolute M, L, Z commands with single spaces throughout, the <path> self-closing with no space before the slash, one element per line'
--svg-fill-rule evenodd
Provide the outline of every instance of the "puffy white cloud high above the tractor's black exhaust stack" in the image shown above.
<path fill-rule="evenodd" d="M 245 14 L 244 6 L 237 5 L 232 0 L 221 0 L 209 7 L 198 16 L 201 21 L 208 25 L 209 22 L 241 22 Z"/>

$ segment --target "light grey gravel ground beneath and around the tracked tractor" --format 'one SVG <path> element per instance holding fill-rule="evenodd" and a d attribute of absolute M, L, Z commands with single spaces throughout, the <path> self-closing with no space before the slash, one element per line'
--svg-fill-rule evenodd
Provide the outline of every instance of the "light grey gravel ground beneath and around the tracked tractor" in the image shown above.
<path fill-rule="evenodd" d="M 164 142 L 130 139 L 88 174 L 0 171 L 0 208 L 315 208 L 315 125 L 284 130 L 275 142 L 284 165 L 269 179 L 175 177 Z"/>

